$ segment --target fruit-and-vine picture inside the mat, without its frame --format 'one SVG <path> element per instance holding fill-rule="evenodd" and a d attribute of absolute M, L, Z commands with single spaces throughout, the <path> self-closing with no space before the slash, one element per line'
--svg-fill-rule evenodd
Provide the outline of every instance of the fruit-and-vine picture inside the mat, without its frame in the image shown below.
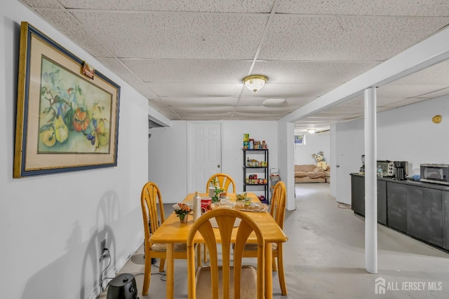
<path fill-rule="evenodd" d="M 38 153 L 109 153 L 112 95 L 42 57 Z"/>

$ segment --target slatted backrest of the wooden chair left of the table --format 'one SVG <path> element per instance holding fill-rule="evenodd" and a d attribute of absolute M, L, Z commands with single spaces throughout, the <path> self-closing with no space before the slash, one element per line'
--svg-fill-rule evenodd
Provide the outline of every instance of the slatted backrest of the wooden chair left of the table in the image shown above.
<path fill-rule="evenodd" d="M 145 186 L 142 188 L 142 193 L 140 194 L 140 204 L 142 206 L 145 244 L 147 246 L 147 242 L 152 235 L 152 232 L 155 232 L 159 228 L 159 225 L 165 221 L 161 191 L 155 183 L 145 183 Z M 159 204 L 159 218 L 157 204 Z"/>

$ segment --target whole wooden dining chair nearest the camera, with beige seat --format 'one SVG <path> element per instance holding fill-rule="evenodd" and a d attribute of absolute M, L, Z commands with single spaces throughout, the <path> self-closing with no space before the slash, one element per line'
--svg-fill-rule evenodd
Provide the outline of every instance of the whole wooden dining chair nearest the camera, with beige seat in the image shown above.
<path fill-rule="evenodd" d="M 215 218 L 217 235 L 210 218 Z M 241 219 L 237 228 L 234 258 L 231 265 L 231 236 L 236 218 Z M 243 247 L 254 232 L 257 237 L 257 268 L 242 265 Z M 208 247 L 210 265 L 195 269 L 194 242 L 199 235 Z M 221 256 L 217 250 L 217 238 L 221 242 Z M 221 258 L 221 259 L 220 259 Z M 222 260 L 222 265 L 218 261 Z M 195 271 L 196 270 L 196 271 Z M 214 209 L 194 222 L 187 235 L 187 282 L 189 299 L 195 298 L 264 298 L 264 237 L 257 223 L 242 211 Z M 219 295 L 221 293 L 221 295 Z M 257 295 L 257 297 L 256 297 Z"/>

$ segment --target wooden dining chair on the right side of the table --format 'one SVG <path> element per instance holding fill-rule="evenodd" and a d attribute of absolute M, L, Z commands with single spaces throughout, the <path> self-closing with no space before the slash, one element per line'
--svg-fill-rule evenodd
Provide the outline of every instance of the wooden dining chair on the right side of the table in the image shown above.
<path fill-rule="evenodd" d="M 272 207 L 269 213 L 273 216 L 279 228 L 283 230 L 283 221 L 286 216 L 286 185 L 283 181 L 279 181 L 274 186 Z M 273 243 L 273 271 L 278 271 L 279 285 L 281 286 L 282 295 L 287 295 L 286 276 L 283 270 L 283 243 Z M 243 251 L 243 257 L 257 257 L 257 248 L 253 244 L 247 244 Z M 277 260 L 277 265 L 276 265 Z M 278 269 L 279 268 L 279 269 Z"/>

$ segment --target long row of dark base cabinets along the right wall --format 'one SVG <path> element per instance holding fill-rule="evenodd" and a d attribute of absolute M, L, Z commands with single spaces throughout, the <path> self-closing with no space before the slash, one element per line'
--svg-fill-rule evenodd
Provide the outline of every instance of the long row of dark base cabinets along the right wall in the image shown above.
<path fill-rule="evenodd" d="M 351 174 L 351 204 L 354 213 L 365 215 L 364 176 Z M 449 187 L 377 179 L 377 221 L 449 250 Z"/>

